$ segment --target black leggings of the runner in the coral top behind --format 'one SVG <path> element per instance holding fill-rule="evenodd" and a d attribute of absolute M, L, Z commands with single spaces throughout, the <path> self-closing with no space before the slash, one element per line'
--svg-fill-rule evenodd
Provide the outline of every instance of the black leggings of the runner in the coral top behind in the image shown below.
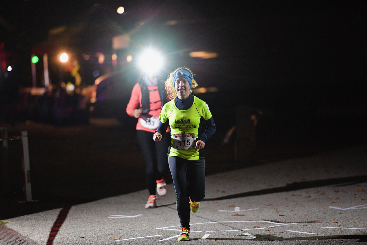
<path fill-rule="evenodd" d="M 138 142 L 145 159 L 145 180 L 149 195 L 156 195 L 156 180 L 162 179 L 167 171 L 167 152 L 170 144 L 170 137 L 167 135 L 161 141 L 155 142 L 153 141 L 153 134 L 152 132 L 137 130 Z"/>

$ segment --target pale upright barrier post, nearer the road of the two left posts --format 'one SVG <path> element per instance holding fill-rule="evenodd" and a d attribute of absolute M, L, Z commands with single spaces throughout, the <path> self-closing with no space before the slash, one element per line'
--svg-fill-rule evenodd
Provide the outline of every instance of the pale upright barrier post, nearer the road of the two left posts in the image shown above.
<path fill-rule="evenodd" d="M 32 201 L 32 189 L 30 186 L 30 167 L 29 167 L 29 149 L 28 149 L 28 133 L 22 133 L 22 169 L 23 169 L 23 190 L 27 202 Z"/>

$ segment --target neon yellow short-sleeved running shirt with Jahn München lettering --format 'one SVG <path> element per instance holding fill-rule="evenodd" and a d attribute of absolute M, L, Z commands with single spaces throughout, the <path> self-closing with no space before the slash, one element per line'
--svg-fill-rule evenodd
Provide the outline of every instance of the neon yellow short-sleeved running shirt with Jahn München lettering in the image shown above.
<path fill-rule="evenodd" d="M 169 156 L 179 156 L 187 160 L 199 160 L 199 149 L 195 149 L 200 118 L 211 118 L 208 105 L 194 96 L 192 106 L 179 110 L 174 100 L 164 104 L 159 116 L 162 123 L 168 120 L 171 129 L 171 149 Z"/>

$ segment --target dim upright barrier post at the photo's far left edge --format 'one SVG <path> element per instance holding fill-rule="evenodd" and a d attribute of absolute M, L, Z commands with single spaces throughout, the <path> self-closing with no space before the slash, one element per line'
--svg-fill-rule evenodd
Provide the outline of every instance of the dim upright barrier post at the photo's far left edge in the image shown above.
<path fill-rule="evenodd" d="M 8 161 L 8 131 L 5 127 L 0 128 L 0 139 L 1 139 L 1 179 L 2 179 L 2 192 L 7 193 L 10 191 L 9 183 L 9 161 Z"/>

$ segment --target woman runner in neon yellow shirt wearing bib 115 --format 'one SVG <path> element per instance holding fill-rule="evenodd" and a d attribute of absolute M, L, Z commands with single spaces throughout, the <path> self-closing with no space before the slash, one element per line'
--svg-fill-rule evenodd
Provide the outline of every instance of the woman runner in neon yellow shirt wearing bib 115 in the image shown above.
<path fill-rule="evenodd" d="M 190 69 L 177 68 L 171 72 L 165 83 L 168 97 L 172 100 L 162 108 L 160 125 L 153 140 L 162 140 L 164 129 L 170 126 L 168 164 L 177 194 L 177 212 L 182 227 L 178 241 L 188 241 L 190 209 L 196 213 L 205 196 L 203 148 L 206 140 L 215 132 L 216 126 L 208 105 L 191 94 L 197 83 Z M 203 120 L 207 129 L 201 133 Z"/>

